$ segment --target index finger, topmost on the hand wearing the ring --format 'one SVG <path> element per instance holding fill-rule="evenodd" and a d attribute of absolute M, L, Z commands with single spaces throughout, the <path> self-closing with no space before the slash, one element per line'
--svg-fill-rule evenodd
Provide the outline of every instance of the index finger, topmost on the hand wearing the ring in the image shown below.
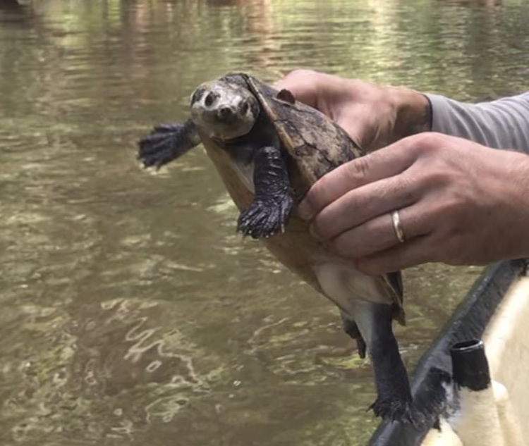
<path fill-rule="evenodd" d="M 324 175 L 310 188 L 298 208 L 299 216 L 310 220 L 347 192 L 403 173 L 413 164 L 416 157 L 417 151 L 414 150 L 413 140 L 406 138 L 384 149 L 342 164 Z M 380 213 L 385 210 L 387 209 L 382 209 Z"/>

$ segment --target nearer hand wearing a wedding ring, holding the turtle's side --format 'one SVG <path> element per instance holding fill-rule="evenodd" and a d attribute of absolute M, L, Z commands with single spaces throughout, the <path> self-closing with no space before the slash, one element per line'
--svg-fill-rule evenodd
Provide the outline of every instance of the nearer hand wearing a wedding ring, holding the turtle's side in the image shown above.
<path fill-rule="evenodd" d="M 528 197 L 528 155 L 427 132 L 324 175 L 298 212 L 330 249 L 379 274 L 529 256 Z"/>

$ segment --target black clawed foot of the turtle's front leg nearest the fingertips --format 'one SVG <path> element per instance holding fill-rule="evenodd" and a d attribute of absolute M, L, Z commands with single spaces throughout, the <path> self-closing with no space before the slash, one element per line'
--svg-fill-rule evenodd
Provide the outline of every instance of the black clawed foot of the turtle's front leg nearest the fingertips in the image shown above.
<path fill-rule="evenodd" d="M 255 197 L 252 204 L 241 211 L 237 230 L 244 236 L 250 235 L 253 239 L 268 238 L 279 232 L 283 233 L 293 205 L 294 201 L 288 194 L 280 198 Z"/>

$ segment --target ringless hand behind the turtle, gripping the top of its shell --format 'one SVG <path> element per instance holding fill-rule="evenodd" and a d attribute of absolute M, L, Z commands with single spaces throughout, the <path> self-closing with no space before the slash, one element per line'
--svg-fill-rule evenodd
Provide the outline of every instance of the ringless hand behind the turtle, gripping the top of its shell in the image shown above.
<path fill-rule="evenodd" d="M 430 102 L 410 89 L 311 70 L 294 70 L 274 87 L 329 116 L 367 151 L 430 130 Z"/>

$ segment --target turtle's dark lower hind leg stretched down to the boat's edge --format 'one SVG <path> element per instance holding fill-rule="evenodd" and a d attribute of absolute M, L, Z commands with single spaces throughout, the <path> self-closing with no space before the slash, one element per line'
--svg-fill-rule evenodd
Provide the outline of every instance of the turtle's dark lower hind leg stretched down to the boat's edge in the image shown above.
<path fill-rule="evenodd" d="M 363 302 L 360 330 L 368 330 L 367 351 L 375 373 L 377 399 L 367 410 L 384 420 L 420 426 L 424 416 L 414 407 L 408 373 L 393 334 L 390 305 Z M 367 314 L 366 314 L 367 313 Z"/>

